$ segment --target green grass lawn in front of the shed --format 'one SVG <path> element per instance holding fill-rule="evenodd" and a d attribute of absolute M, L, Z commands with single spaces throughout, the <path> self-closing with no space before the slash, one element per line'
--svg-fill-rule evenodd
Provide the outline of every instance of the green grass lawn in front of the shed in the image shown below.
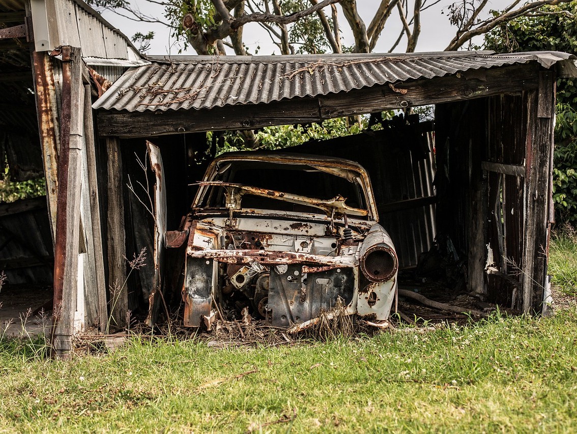
<path fill-rule="evenodd" d="M 576 329 L 569 303 L 295 346 L 135 338 L 71 361 L 2 340 L 0 432 L 572 432 Z"/>

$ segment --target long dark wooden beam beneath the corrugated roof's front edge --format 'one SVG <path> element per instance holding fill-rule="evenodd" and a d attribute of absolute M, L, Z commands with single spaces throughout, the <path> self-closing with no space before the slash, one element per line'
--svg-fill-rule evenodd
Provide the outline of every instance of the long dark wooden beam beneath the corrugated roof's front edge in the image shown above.
<path fill-rule="evenodd" d="M 215 107 L 210 110 L 103 111 L 98 115 L 100 134 L 117 137 L 151 137 L 213 129 L 254 129 L 272 125 L 306 124 L 346 115 L 481 98 L 500 93 L 537 89 L 538 65 L 516 65 L 472 74 L 424 78 L 349 92 L 293 98 L 268 104 Z"/>

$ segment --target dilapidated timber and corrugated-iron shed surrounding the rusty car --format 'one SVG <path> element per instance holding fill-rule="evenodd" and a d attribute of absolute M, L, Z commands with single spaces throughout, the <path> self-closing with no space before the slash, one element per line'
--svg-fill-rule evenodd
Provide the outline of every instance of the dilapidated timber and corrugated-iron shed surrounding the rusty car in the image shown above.
<path fill-rule="evenodd" d="M 381 132 L 297 150 L 370 166 L 381 221 L 404 266 L 417 265 L 434 238 L 443 240 L 462 259 L 471 293 L 516 312 L 541 312 L 553 222 L 555 84 L 577 76 L 574 56 L 143 59 L 80 0 L 10 0 L 0 8 L 0 77 L 11 89 L 2 96 L 2 149 L 20 170 L 15 177 L 46 177 L 58 353 L 71 349 L 75 327 L 123 327 L 143 305 L 153 313 L 147 297 L 114 288 L 127 278 L 125 257 L 142 247 L 153 261 L 131 278 L 136 287 L 148 295 L 174 281 L 170 261 L 162 269 L 164 231 L 178 226 L 190 184 L 214 156 L 206 132 L 428 104 L 435 105 L 434 124 L 384 123 Z M 155 167 L 156 191 L 164 189 L 166 208 L 156 200 L 152 211 L 166 214 L 164 226 L 151 226 L 127 186 L 148 179 L 134 158 L 145 161 L 147 141 L 163 162 L 162 173 Z"/>

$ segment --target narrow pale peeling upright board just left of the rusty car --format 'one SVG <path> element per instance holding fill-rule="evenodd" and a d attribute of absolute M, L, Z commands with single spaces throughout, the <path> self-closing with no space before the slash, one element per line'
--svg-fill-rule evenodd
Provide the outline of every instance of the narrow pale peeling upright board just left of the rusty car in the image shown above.
<path fill-rule="evenodd" d="M 164 234 L 166 233 L 166 182 L 164 181 L 164 169 L 160 149 L 147 140 L 148 156 L 150 165 L 155 175 L 154 183 L 154 280 L 152 292 L 148 297 L 148 327 L 153 327 L 158 317 L 158 309 L 164 303 L 162 294 L 164 277 Z"/>

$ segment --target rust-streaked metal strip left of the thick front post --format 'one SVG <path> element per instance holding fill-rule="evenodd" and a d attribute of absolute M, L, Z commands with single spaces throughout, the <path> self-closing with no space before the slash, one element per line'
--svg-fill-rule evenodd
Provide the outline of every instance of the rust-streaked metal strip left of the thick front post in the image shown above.
<path fill-rule="evenodd" d="M 54 122 L 54 119 L 57 118 L 57 95 L 54 83 L 54 70 L 50 55 L 47 53 L 33 51 L 32 63 L 36 85 L 35 96 L 40 147 L 42 148 L 44 176 L 46 177 L 46 199 L 54 241 L 56 233 L 59 148 L 59 125 Z"/>

